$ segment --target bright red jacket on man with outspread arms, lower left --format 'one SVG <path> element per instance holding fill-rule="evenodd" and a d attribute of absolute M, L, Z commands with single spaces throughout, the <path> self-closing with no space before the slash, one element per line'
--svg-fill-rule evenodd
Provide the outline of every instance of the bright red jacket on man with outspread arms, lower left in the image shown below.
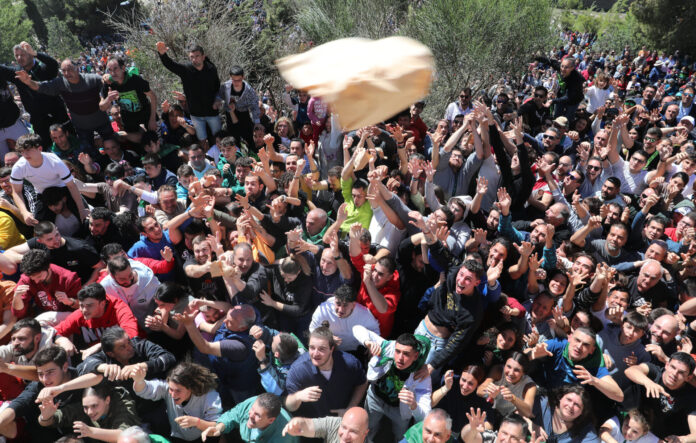
<path fill-rule="evenodd" d="M 89 347 L 99 343 L 104 329 L 111 326 L 122 327 L 130 338 L 145 337 L 142 331 L 138 329 L 138 320 L 133 316 L 130 307 L 120 299 L 110 295 L 106 296 L 104 315 L 99 318 L 85 320 L 82 316 L 82 311 L 77 310 L 58 323 L 56 332 L 63 337 L 82 334 L 82 340 Z"/>

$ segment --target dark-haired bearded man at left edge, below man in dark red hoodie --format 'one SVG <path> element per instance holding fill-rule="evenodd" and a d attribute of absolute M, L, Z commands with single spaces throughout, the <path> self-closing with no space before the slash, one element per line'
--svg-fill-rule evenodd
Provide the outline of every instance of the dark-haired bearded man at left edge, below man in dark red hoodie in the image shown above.
<path fill-rule="evenodd" d="M 36 353 L 53 344 L 56 331 L 51 327 L 41 327 L 33 318 L 23 318 L 12 326 L 10 334 L 10 343 L 0 346 L 0 392 L 3 401 L 22 392 L 24 386 L 17 377 L 34 380 Z"/>

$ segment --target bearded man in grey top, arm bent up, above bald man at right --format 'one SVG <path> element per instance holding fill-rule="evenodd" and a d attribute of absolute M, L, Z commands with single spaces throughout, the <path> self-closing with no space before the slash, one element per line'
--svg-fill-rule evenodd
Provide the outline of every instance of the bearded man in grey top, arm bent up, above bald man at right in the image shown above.
<path fill-rule="evenodd" d="M 585 238 L 589 233 L 601 225 L 601 216 L 590 217 L 587 225 L 570 237 L 570 242 L 592 254 L 598 262 L 607 263 L 610 266 L 627 261 L 636 261 L 640 258 L 635 252 L 624 249 L 628 240 L 628 228 L 620 222 L 611 225 L 606 240 L 595 239 L 586 242 Z"/>

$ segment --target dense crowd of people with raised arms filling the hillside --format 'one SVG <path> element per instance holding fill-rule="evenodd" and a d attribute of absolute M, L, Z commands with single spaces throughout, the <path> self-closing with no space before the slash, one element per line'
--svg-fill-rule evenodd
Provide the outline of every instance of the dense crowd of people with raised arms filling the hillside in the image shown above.
<path fill-rule="evenodd" d="M 563 37 L 357 130 L 200 46 L 170 101 L 17 44 L 2 438 L 696 441 L 694 67 Z"/>

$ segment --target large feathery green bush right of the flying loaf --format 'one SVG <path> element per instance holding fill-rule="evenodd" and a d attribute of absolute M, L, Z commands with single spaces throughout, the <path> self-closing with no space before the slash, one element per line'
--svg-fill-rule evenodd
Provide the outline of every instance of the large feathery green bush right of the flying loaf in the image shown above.
<path fill-rule="evenodd" d="M 549 0 L 429 0 L 412 8 L 402 32 L 433 51 L 437 70 L 426 116 L 440 118 L 464 86 L 482 89 L 524 70 L 553 43 L 551 12 Z"/>

